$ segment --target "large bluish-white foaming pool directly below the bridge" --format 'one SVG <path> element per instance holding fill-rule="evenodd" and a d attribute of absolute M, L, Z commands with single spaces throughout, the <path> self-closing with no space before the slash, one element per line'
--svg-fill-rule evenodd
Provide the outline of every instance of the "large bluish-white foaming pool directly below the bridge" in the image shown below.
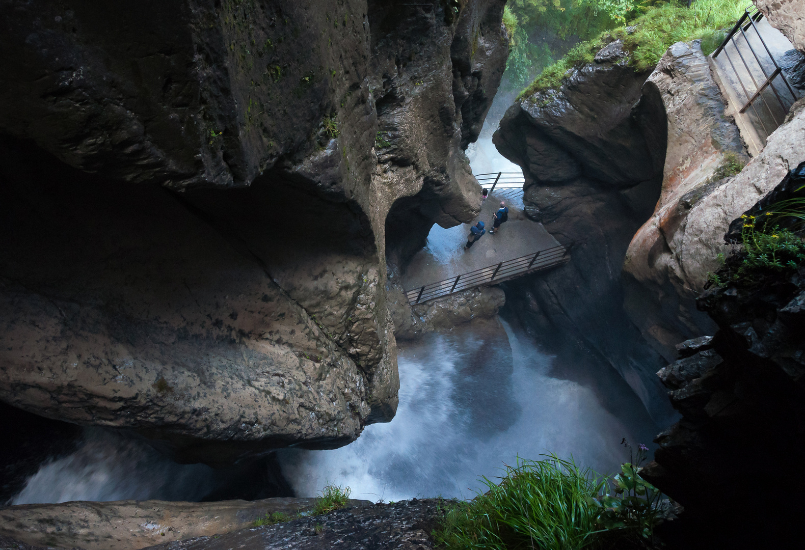
<path fill-rule="evenodd" d="M 518 456 L 551 452 L 608 472 L 627 458 L 621 438 L 650 441 L 647 415 L 613 416 L 592 388 L 549 376 L 554 359 L 504 326 L 457 327 L 402 347 L 393 421 L 341 449 L 282 452 L 297 495 L 335 483 L 356 499 L 467 498 L 481 475 L 493 478 Z M 622 384 L 617 372 L 608 376 Z M 639 407 L 637 396 L 626 398 Z"/>

